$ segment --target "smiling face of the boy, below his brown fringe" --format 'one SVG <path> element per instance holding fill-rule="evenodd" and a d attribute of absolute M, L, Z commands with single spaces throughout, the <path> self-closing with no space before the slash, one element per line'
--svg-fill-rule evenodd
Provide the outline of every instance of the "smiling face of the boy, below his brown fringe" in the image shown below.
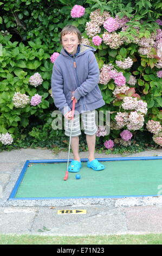
<path fill-rule="evenodd" d="M 74 55 L 79 45 L 77 34 L 71 33 L 62 36 L 62 46 L 70 54 Z"/>

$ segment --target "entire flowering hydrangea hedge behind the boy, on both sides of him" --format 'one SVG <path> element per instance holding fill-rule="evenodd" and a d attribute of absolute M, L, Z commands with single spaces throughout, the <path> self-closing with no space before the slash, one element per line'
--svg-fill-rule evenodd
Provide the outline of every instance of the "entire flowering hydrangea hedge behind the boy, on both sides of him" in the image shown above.
<path fill-rule="evenodd" d="M 61 51 L 61 29 L 72 24 L 82 32 L 82 43 L 96 49 L 99 86 L 106 102 L 101 110 L 111 111 L 110 134 L 106 135 L 105 126 L 99 126 L 97 143 L 101 146 L 103 141 L 106 149 L 113 150 L 115 145 L 131 145 L 137 132 L 150 132 L 160 147 L 160 0 L 127 4 L 123 0 L 24 2 L 30 1 L 1 3 L 0 142 L 10 145 L 12 139 L 19 139 L 32 118 L 51 124 L 55 109 L 50 95 L 51 71 Z M 8 32 L 13 28 L 19 42 Z M 41 139 L 37 131 L 34 127 L 30 134 Z M 57 131 L 57 137 L 61 132 Z"/>

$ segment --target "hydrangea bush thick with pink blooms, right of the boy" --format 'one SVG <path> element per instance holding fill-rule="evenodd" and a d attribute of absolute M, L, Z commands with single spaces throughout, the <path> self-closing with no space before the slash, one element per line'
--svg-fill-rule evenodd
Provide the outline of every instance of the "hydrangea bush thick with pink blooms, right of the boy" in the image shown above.
<path fill-rule="evenodd" d="M 147 23 L 145 33 L 140 33 L 144 21 L 131 27 L 134 15 L 121 17 L 121 14 L 112 15 L 109 11 L 96 9 L 89 15 L 82 40 L 83 44 L 96 48 L 100 89 L 106 102 L 101 109 L 113 111 L 111 133 L 104 143 L 107 149 L 114 147 L 112 140 L 107 140 L 107 137 L 116 137 L 114 130 L 119 131 L 122 145 L 121 140 L 130 141 L 137 130 L 156 130 L 153 141 L 161 146 L 161 20 L 154 20 L 155 31 L 152 29 L 150 33 Z M 148 119 L 155 121 L 150 123 Z M 103 131 L 104 127 L 99 127 L 96 136 L 104 136 Z"/>

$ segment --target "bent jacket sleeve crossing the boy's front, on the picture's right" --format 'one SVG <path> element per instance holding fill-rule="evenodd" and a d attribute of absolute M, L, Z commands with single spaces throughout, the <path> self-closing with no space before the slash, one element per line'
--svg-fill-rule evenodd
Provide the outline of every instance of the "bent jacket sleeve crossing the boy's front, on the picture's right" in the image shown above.
<path fill-rule="evenodd" d="M 100 79 L 100 70 L 98 62 L 95 58 L 95 55 L 92 51 L 89 51 L 88 59 L 88 77 L 85 82 L 83 82 L 77 89 L 74 91 L 74 97 L 79 100 L 80 97 L 85 96 L 91 92 L 96 84 L 98 84 Z"/>

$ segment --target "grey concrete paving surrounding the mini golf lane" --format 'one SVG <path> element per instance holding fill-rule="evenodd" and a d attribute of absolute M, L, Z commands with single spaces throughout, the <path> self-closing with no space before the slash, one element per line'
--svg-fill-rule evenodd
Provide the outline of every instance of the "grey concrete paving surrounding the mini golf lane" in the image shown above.
<path fill-rule="evenodd" d="M 80 156 L 87 158 L 87 153 L 81 152 Z M 96 158 L 125 156 L 162 156 L 162 149 L 129 155 L 95 154 Z M 72 154 L 70 158 L 73 158 Z M 162 233 L 161 196 L 9 201 L 25 161 L 42 159 L 67 159 L 67 153 L 54 154 L 41 148 L 0 153 L 0 234 L 72 236 Z M 57 214 L 58 210 L 73 209 L 84 209 L 87 213 Z M 43 227 L 48 230 L 43 230 Z M 39 232 L 40 229 L 43 232 Z"/>

